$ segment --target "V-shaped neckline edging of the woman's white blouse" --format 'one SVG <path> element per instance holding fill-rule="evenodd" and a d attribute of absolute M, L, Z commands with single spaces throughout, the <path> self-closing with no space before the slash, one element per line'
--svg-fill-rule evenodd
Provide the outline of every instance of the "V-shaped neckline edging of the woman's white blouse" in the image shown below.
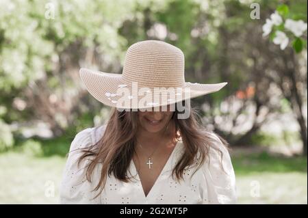
<path fill-rule="evenodd" d="M 159 181 L 159 179 L 162 177 L 162 174 L 164 174 L 168 167 L 170 166 L 170 161 L 172 159 L 173 156 L 175 156 L 175 151 L 177 150 L 177 148 L 179 148 L 179 144 L 180 144 L 181 140 L 177 141 L 177 144 L 175 144 L 175 148 L 173 148 L 171 154 L 169 155 L 168 157 L 168 160 L 166 161 L 164 167 L 162 168 L 162 171 L 159 173 L 159 175 L 157 176 L 154 184 L 152 185 L 150 191 L 148 192 L 148 194 L 146 195 L 144 193 L 144 189 L 143 189 L 143 186 L 142 186 L 142 182 L 140 180 L 140 176 L 139 176 L 139 173 L 137 171 L 137 168 L 136 168 L 136 165 L 135 163 L 133 162 L 133 159 L 131 159 L 131 167 L 133 169 L 133 175 L 136 175 L 136 179 L 138 180 L 138 186 L 141 188 L 141 191 L 142 191 L 142 195 L 143 197 L 148 200 L 149 197 L 151 197 L 151 194 L 153 193 L 153 190 L 155 189 L 156 185 L 157 185 L 157 182 Z"/>

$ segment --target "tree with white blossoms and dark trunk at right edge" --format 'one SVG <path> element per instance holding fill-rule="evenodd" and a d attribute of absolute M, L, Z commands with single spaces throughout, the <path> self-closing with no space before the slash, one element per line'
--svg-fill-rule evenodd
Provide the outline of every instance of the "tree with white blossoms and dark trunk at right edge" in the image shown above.
<path fill-rule="evenodd" d="M 289 101 L 300 127 L 303 154 L 307 156 L 307 121 L 304 115 L 304 103 L 307 102 L 307 7 L 300 7 L 305 3 L 307 5 L 307 1 L 285 1 L 267 19 L 263 29 L 268 30 L 266 34 L 271 31 L 270 39 L 274 44 L 280 44 L 281 50 L 287 48 L 285 52 L 277 51 L 270 57 L 273 62 L 269 68 L 274 67 L 272 71 L 275 73 L 268 74 L 268 78 L 278 85 Z M 288 46 L 290 40 L 291 48 Z M 304 52 L 300 53 L 303 49 Z"/>

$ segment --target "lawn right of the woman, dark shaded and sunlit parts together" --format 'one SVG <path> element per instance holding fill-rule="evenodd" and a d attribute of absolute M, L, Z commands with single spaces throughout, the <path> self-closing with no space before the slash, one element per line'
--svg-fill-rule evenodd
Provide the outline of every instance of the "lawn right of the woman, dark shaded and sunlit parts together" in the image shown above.
<path fill-rule="evenodd" d="M 232 163 L 240 204 L 307 204 L 307 157 L 238 153 Z"/>

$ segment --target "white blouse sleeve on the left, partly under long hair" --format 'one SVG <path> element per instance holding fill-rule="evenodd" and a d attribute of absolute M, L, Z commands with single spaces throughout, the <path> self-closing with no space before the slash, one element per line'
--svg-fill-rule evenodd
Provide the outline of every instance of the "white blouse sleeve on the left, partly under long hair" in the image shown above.
<path fill-rule="evenodd" d="M 97 191 L 92 191 L 99 179 L 97 172 L 94 170 L 92 182 L 88 182 L 86 180 L 86 165 L 89 159 L 83 160 L 77 165 L 81 156 L 80 148 L 87 148 L 91 145 L 92 128 L 80 131 L 71 142 L 60 185 L 60 204 L 101 204 L 100 197 L 92 200 L 97 195 Z"/>

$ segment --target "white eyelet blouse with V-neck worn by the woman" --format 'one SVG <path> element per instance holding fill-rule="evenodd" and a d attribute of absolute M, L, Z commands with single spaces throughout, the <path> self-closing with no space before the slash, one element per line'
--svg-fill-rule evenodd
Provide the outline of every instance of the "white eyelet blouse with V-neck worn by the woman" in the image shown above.
<path fill-rule="evenodd" d="M 222 150 L 223 169 L 220 167 L 220 154 L 209 150 L 209 161 L 205 161 L 202 167 L 192 176 L 193 167 L 186 167 L 185 180 L 173 180 L 171 172 L 177 159 L 183 152 L 183 141 L 178 141 L 161 174 L 155 181 L 148 195 L 144 195 L 142 185 L 133 161 L 129 165 L 129 172 L 136 180 L 122 182 L 107 176 L 105 187 L 96 199 L 92 198 L 99 191 L 91 192 L 99 181 L 101 165 L 97 165 L 92 176 L 92 182 L 86 180 L 85 166 L 87 161 L 81 161 L 77 166 L 77 159 L 81 152 L 77 148 L 86 148 L 95 144 L 103 136 L 105 125 L 86 128 L 77 133 L 70 144 L 70 152 L 63 172 L 60 187 L 60 204 L 235 204 L 236 188 L 235 174 L 228 150 L 222 145 L 220 139 L 217 144 Z"/>

